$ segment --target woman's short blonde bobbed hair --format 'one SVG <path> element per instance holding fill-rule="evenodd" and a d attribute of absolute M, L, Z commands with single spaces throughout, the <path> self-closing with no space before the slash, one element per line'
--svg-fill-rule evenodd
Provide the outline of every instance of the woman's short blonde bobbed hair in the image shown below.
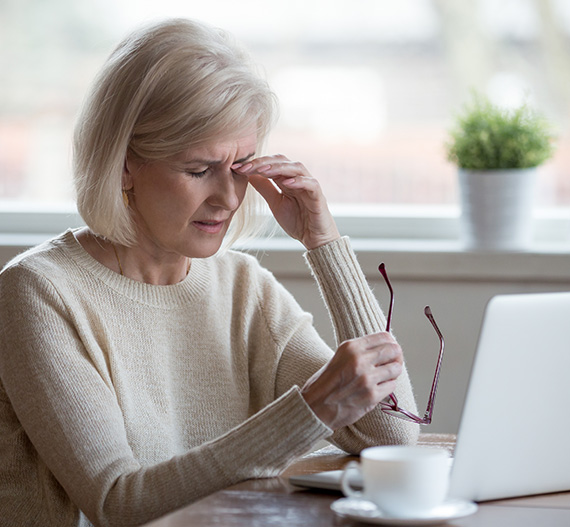
<path fill-rule="evenodd" d="M 252 125 L 261 144 L 275 108 L 267 82 L 227 33 L 184 19 L 135 31 L 103 66 L 75 127 L 79 213 L 96 234 L 134 245 L 135 228 L 122 200 L 127 154 L 166 159 Z M 255 223 L 256 198 L 248 188 L 230 241 Z"/>

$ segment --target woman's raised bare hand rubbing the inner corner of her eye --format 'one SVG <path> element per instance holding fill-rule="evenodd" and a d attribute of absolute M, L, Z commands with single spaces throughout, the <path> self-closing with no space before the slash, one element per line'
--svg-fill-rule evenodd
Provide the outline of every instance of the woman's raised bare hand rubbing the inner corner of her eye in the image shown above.
<path fill-rule="evenodd" d="M 283 230 L 308 250 L 340 237 L 319 182 L 301 163 L 263 156 L 232 170 L 249 177 Z"/>

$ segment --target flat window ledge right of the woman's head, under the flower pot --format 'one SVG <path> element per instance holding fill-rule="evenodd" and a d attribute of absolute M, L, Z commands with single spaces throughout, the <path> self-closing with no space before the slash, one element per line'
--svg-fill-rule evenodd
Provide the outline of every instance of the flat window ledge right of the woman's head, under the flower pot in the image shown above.
<path fill-rule="evenodd" d="M 368 278 L 378 278 L 385 262 L 398 280 L 570 282 L 570 243 L 537 243 L 524 252 L 479 252 L 458 241 L 351 239 Z M 247 250 L 281 277 L 302 277 L 303 247 L 293 240 L 248 244 Z"/>

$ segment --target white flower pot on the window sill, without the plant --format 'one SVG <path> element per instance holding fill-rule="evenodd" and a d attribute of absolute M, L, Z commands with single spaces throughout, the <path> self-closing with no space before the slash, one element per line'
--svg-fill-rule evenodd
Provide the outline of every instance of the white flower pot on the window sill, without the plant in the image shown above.
<path fill-rule="evenodd" d="M 467 249 L 529 247 L 536 168 L 459 170 L 461 235 Z"/>

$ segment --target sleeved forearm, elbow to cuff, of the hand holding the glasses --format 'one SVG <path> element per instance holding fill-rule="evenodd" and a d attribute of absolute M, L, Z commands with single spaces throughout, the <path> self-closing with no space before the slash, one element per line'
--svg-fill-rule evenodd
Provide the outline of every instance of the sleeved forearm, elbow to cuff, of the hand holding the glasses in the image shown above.
<path fill-rule="evenodd" d="M 139 525 L 244 479 L 276 476 L 330 433 L 290 390 L 224 436 L 122 474 L 101 502 L 101 524 Z"/>

